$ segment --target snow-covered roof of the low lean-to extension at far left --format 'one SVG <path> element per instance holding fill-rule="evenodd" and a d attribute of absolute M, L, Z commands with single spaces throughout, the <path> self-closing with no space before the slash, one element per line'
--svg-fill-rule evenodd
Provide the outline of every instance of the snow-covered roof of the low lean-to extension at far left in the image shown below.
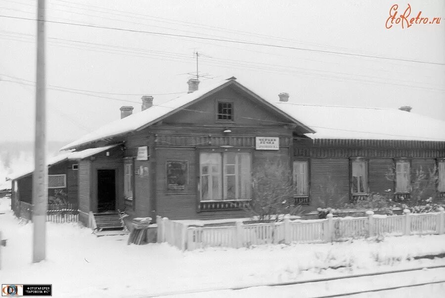
<path fill-rule="evenodd" d="M 81 160 L 84 158 L 87 158 L 89 156 L 93 156 L 97 153 L 106 151 L 108 149 L 111 149 L 113 147 L 116 147 L 118 144 L 113 144 L 113 145 L 109 145 L 109 146 L 104 146 L 104 147 L 98 147 L 98 148 L 91 148 L 91 149 L 85 149 L 82 151 L 65 151 L 60 153 L 59 155 L 56 155 L 54 157 L 50 157 L 46 159 L 46 163 L 48 165 L 48 167 L 64 162 L 66 160 Z M 13 172 L 10 175 L 7 176 L 8 179 L 11 180 L 16 180 L 18 178 L 21 178 L 23 176 L 29 175 L 34 171 L 34 166 L 31 166 L 24 169 L 24 170 L 20 170 L 17 172 Z"/>

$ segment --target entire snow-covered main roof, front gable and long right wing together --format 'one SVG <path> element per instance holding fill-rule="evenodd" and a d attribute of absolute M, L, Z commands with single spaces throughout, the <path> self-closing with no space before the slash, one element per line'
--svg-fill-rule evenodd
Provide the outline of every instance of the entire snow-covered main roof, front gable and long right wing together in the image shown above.
<path fill-rule="evenodd" d="M 273 103 L 235 78 L 207 85 L 142 112 L 111 122 L 61 148 L 75 149 L 101 139 L 146 128 L 223 87 L 234 84 L 299 125 L 311 138 L 445 141 L 445 122 L 398 109 Z"/>

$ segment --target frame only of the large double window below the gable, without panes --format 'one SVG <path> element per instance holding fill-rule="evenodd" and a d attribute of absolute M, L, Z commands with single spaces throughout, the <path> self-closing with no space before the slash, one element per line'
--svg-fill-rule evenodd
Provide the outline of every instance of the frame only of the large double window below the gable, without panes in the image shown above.
<path fill-rule="evenodd" d="M 226 184 L 225 183 L 225 181 L 226 181 L 225 179 L 226 179 L 226 177 L 225 177 L 225 167 L 224 167 L 224 155 L 225 154 L 230 154 L 230 153 L 233 153 L 233 154 L 248 153 L 249 154 L 249 159 L 250 159 L 249 160 L 249 185 L 250 185 L 250 188 L 252 188 L 251 183 L 252 183 L 252 160 L 253 160 L 253 154 L 252 154 L 251 150 L 240 150 L 240 149 L 237 149 L 237 151 L 227 151 L 227 150 L 215 150 L 215 149 L 213 149 L 213 151 L 207 151 L 207 150 L 206 151 L 200 151 L 200 152 L 198 152 L 198 161 L 199 161 L 198 165 L 199 166 L 198 166 L 198 169 L 197 169 L 197 176 L 198 176 L 198 181 L 197 181 L 198 191 L 197 191 L 197 194 L 198 194 L 198 202 L 199 203 L 206 203 L 206 202 L 237 202 L 237 201 L 250 201 L 252 199 L 252 189 L 250 189 L 250 196 L 248 196 L 249 197 L 248 199 L 243 199 L 243 198 L 239 198 L 239 199 L 224 199 L 224 198 L 227 197 L 226 196 L 227 190 L 225 189 L 225 184 Z M 221 164 L 218 165 L 218 172 L 219 172 L 218 176 L 219 176 L 220 185 L 218 187 L 218 192 L 219 192 L 219 195 L 220 195 L 221 199 L 217 199 L 217 200 L 213 199 L 213 194 L 212 194 L 212 200 L 202 200 L 202 190 L 203 189 L 202 189 L 201 177 L 202 177 L 202 165 L 203 164 L 201 164 L 201 154 L 219 154 L 220 155 Z M 231 164 L 229 164 L 229 165 L 231 165 Z M 206 175 L 208 175 L 209 177 L 212 177 L 211 173 L 206 174 Z M 240 177 L 241 177 L 240 178 L 241 180 L 239 180 L 238 183 L 242 183 L 243 177 L 242 177 L 242 175 Z M 236 181 L 236 178 L 235 178 L 235 181 Z M 242 184 L 240 185 L 240 187 L 242 187 Z M 241 193 L 239 194 L 239 196 L 241 195 Z"/>

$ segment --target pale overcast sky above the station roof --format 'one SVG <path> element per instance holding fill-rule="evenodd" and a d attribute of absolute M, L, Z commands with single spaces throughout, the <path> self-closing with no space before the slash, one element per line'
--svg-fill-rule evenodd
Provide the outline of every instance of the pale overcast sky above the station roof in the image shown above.
<path fill-rule="evenodd" d="M 444 0 L 46 2 L 47 20 L 56 22 L 445 63 Z M 0 0 L 0 15 L 34 19 L 36 3 Z M 411 17 L 422 11 L 442 17 L 441 24 L 386 29 L 391 6 L 399 4 L 402 13 L 407 3 Z M 141 94 L 185 92 L 196 50 L 200 73 L 213 78 L 201 78 L 201 85 L 235 76 L 267 100 L 284 91 L 294 103 L 410 105 L 413 113 L 445 120 L 444 65 L 61 23 L 46 29 L 49 140 L 72 141 L 119 119 L 123 105 L 139 112 Z M 0 17 L 3 140 L 34 139 L 35 34 L 35 21 Z M 154 103 L 178 95 L 154 95 Z"/>

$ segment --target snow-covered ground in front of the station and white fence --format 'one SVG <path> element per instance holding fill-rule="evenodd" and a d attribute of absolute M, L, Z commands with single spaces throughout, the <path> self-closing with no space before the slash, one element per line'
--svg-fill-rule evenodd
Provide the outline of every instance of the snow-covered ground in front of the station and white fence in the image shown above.
<path fill-rule="evenodd" d="M 0 283 L 52 284 L 53 297 L 146 297 L 445 264 L 444 259 L 410 260 L 444 254 L 445 235 L 180 252 L 167 244 L 128 246 L 128 236 L 97 238 L 77 224 L 50 222 L 47 258 L 32 263 L 32 223 L 13 217 L 9 205 L 9 199 L 0 199 L 0 230 L 7 239 L 1 248 Z M 440 284 L 428 289 L 429 297 L 444 290 Z M 272 290 L 279 288 L 206 292 L 200 297 L 293 296 Z"/>

